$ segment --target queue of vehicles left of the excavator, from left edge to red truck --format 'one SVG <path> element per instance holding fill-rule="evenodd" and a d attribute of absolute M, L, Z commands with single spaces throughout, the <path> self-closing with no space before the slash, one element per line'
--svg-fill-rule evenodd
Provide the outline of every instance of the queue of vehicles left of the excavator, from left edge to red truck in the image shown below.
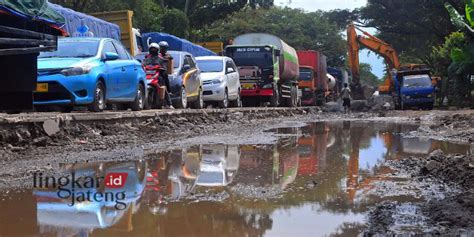
<path fill-rule="evenodd" d="M 12 105 L 11 100 L 5 99 L 0 103 L 0 110 L 31 110 L 32 105 L 39 111 L 63 112 L 75 106 L 86 106 L 94 112 L 112 107 L 134 111 L 158 108 L 160 103 L 149 98 L 151 81 L 147 80 L 147 70 L 139 63 L 148 46 L 158 41 L 167 41 L 172 50 L 170 95 L 177 108 L 203 108 L 206 103 L 222 108 L 265 103 L 290 107 L 316 105 L 326 100 L 325 95 L 331 89 L 327 85 L 335 84 L 331 79 L 328 83 L 322 54 L 308 52 L 305 58 L 314 59 L 303 65 L 300 74 L 300 57 L 296 50 L 273 35 L 238 36 L 233 45 L 226 47 L 226 56 L 217 56 L 211 50 L 172 35 L 140 33 L 132 27 L 131 11 L 91 16 L 47 4 L 62 17 L 54 26 L 46 24 L 57 29 L 59 37 L 51 36 L 54 47 L 30 55 L 30 61 L 37 56 L 36 65 L 21 69 L 33 70 L 31 75 L 22 77 L 28 87 L 15 97 L 15 100 L 23 99 L 22 103 Z M 21 9 L 14 10 L 21 12 Z M 28 22 L 33 17 L 11 21 Z M 7 78 L 7 81 L 14 80 Z M 18 87 L 14 85 L 8 90 L 15 91 Z M 0 91 L 0 94 L 11 93 Z"/>

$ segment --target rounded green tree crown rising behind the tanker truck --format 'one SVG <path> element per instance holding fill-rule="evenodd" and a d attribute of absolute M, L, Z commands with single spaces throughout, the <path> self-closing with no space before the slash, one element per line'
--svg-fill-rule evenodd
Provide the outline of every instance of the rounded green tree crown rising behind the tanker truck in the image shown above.
<path fill-rule="evenodd" d="M 344 65 L 346 44 L 342 34 L 323 16 L 322 12 L 273 7 L 246 8 L 204 28 L 202 41 L 226 42 L 240 34 L 261 32 L 281 37 L 298 50 L 318 50 L 328 56 L 331 66 Z"/>

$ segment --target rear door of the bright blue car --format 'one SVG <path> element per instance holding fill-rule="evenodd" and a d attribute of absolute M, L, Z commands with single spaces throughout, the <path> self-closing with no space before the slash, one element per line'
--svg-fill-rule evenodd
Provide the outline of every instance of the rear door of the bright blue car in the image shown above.
<path fill-rule="evenodd" d="M 138 85 L 138 63 L 136 63 L 135 60 L 131 60 L 130 55 L 122 44 L 114 41 L 114 45 L 119 55 L 119 61 L 122 62 L 123 75 L 119 83 L 119 97 L 122 100 L 134 100 Z"/>

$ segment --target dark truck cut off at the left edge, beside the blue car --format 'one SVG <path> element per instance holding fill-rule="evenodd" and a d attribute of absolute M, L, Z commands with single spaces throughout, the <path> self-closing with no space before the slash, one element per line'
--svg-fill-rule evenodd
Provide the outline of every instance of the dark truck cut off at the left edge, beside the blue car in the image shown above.
<path fill-rule="evenodd" d="M 57 49 L 64 18 L 46 0 L 0 2 L 0 111 L 33 109 L 37 57 Z"/>

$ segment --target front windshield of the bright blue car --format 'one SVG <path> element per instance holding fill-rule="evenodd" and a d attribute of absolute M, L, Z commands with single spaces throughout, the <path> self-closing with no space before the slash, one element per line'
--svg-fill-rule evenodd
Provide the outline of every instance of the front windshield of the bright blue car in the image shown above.
<path fill-rule="evenodd" d="M 96 40 L 59 40 L 58 50 L 41 52 L 39 58 L 89 58 L 97 55 L 98 48 Z"/>

